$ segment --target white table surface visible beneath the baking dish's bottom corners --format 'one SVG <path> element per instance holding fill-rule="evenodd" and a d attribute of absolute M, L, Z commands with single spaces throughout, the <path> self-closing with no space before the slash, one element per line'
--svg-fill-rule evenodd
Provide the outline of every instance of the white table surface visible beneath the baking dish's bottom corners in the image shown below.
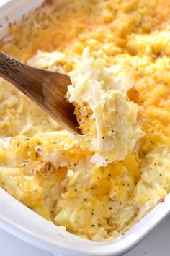
<path fill-rule="evenodd" d="M 1 256 L 53 256 L 49 252 L 22 242 L 0 229 Z M 143 242 L 124 256 L 169 256 L 170 215 L 154 229 Z M 69 256 L 69 255 L 68 255 Z M 81 255 L 80 255 L 81 256 Z"/>

